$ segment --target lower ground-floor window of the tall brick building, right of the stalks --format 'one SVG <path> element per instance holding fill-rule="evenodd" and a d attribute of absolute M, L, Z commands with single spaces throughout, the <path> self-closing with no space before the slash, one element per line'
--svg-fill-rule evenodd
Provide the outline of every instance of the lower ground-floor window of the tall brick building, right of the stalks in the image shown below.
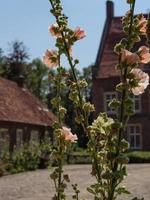
<path fill-rule="evenodd" d="M 127 127 L 130 149 L 141 149 L 141 126 L 139 124 Z"/>

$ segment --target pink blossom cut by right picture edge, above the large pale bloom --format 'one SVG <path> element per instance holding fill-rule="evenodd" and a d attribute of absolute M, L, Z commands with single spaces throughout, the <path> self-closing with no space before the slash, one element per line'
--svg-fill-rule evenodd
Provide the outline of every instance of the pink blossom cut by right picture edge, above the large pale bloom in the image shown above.
<path fill-rule="evenodd" d="M 148 47 L 141 46 L 138 50 L 138 55 L 140 57 L 141 63 L 146 64 L 150 62 L 150 52 Z"/>

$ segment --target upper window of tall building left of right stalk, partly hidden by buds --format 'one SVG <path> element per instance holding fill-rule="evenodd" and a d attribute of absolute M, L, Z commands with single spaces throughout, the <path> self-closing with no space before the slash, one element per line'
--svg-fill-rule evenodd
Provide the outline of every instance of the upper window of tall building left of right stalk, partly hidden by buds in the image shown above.
<path fill-rule="evenodd" d="M 104 93 L 104 109 L 108 114 L 114 114 L 115 113 L 115 110 L 108 106 L 109 102 L 114 98 L 116 98 L 115 92 L 105 92 Z"/>

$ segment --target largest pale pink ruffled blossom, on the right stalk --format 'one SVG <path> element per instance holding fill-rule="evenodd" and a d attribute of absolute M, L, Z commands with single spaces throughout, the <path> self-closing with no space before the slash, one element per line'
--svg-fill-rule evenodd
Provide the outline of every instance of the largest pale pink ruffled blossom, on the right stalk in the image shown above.
<path fill-rule="evenodd" d="M 131 73 L 134 74 L 136 80 L 138 81 L 138 86 L 132 88 L 133 94 L 140 95 L 144 93 L 144 90 L 149 85 L 149 75 L 138 68 L 132 69 Z"/>

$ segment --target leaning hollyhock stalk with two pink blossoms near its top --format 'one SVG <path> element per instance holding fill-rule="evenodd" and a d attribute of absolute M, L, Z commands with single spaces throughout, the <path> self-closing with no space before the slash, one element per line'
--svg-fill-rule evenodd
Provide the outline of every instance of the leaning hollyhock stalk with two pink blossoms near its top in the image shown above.
<path fill-rule="evenodd" d="M 53 36 L 56 36 L 56 46 L 60 49 L 62 54 L 65 54 L 72 72 L 73 82 L 70 84 L 70 99 L 75 102 L 77 109 L 78 123 L 81 123 L 85 132 L 88 134 L 88 116 L 89 113 L 94 111 L 94 107 L 85 101 L 85 97 L 82 95 L 82 89 L 86 87 L 86 82 L 78 81 L 75 67 L 79 63 L 78 60 L 73 60 L 71 51 L 74 43 L 85 37 L 85 32 L 81 28 L 77 27 L 75 30 L 68 28 L 67 17 L 62 13 L 61 1 L 50 0 L 52 9 L 51 13 L 56 18 L 56 25 L 50 27 L 50 32 Z M 57 30 L 56 30 L 57 27 Z"/>

